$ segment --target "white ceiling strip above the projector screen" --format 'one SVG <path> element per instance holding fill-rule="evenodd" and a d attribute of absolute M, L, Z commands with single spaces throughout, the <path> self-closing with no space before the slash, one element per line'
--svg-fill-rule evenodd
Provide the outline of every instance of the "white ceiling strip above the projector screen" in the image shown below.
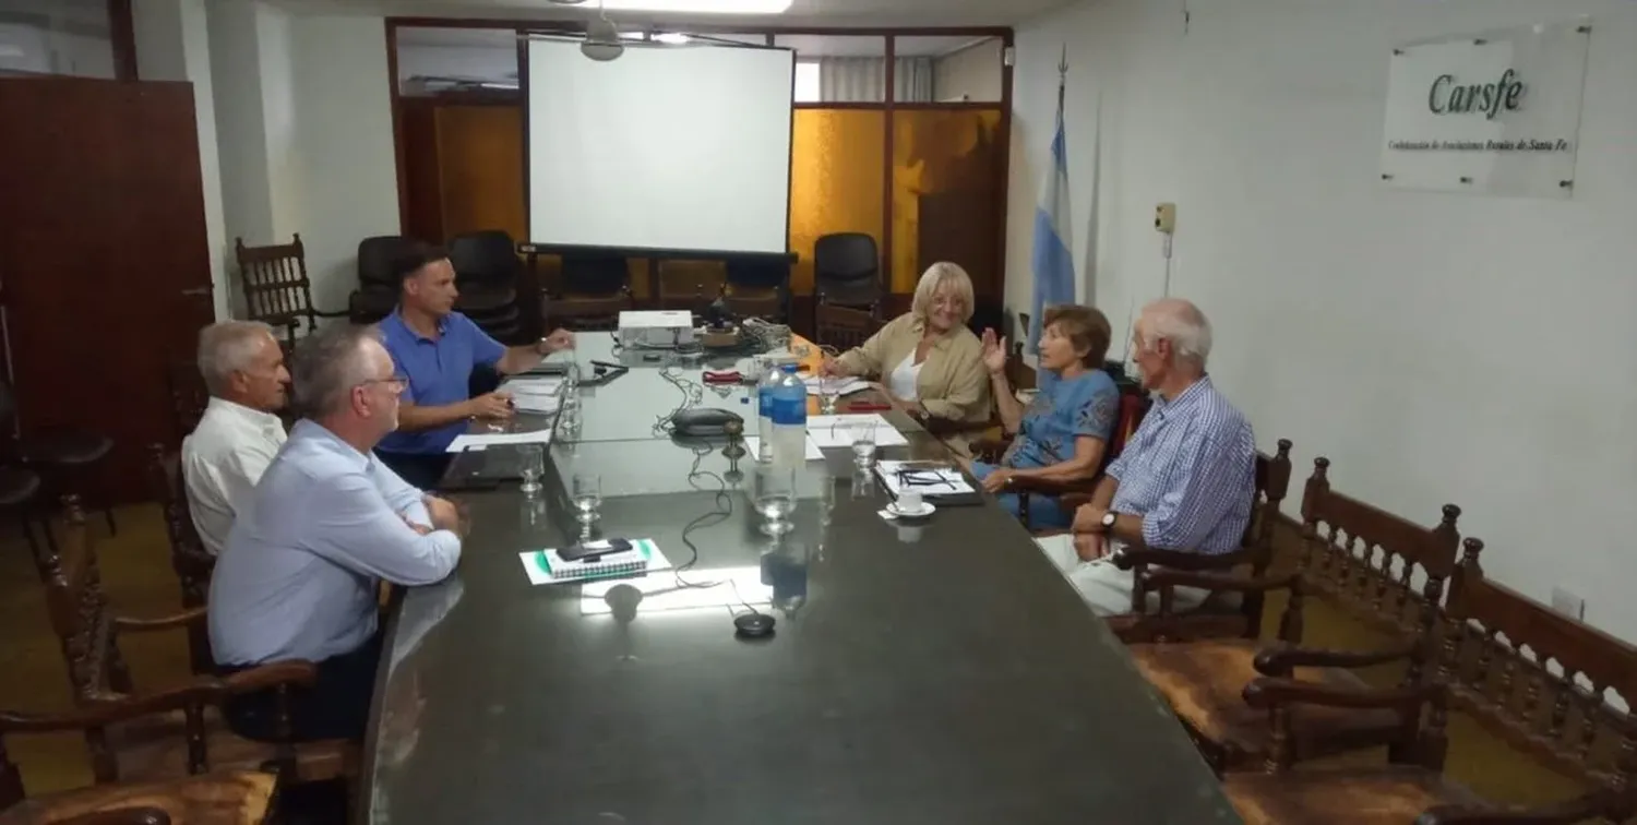
<path fill-rule="evenodd" d="M 367 13 L 395 16 L 568 18 L 586 11 L 563 10 L 547 0 L 273 0 L 301 13 Z M 696 25 L 756 26 L 1010 26 L 1074 0 L 792 0 L 784 15 L 717 16 L 688 15 Z M 635 11 L 611 13 L 632 23 L 674 21 L 674 16 Z"/>

